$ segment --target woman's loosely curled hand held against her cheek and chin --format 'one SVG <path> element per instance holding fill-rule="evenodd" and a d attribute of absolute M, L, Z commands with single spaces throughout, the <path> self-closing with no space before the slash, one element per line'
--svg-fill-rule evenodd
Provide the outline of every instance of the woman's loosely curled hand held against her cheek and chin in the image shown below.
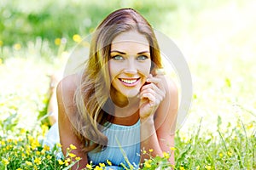
<path fill-rule="evenodd" d="M 154 118 L 160 102 L 166 97 L 166 89 L 163 86 L 162 75 L 148 76 L 147 82 L 141 88 L 140 93 L 140 118 L 141 121 L 147 118 Z"/>

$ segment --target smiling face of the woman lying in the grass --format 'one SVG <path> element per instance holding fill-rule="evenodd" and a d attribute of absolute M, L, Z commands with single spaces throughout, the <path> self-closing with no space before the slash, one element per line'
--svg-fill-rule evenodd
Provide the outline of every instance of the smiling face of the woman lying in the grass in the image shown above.
<path fill-rule="evenodd" d="M 111 44 L 110 57 L 109 73 L 117 96 L 136 97 L 150 72 L 147 38 L 137 31 L 119 34 Z"/>

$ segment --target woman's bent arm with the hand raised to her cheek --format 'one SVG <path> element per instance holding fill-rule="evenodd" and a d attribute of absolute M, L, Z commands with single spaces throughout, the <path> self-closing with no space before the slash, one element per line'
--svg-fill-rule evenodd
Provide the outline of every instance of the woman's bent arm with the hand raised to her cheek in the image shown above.
<path fill-rule="evenodd" d="M 163 156 L 164 151 L 172 152 L 169 161 L 174 164 L 174 153 L 170 147 L 174 146 L 175 122 L 178 108 L 177 87 L 171 79 L 164 76 L 149 79 L 151 79 L 151 84 L 154 83 L 155 85 L 155 92 L 147 91 L 146 87 L 142 89 L 144 91 L 143 94 L 152 94 L 151 97 L 150 95 L 144 95 L 144 98 L 147 99 L 144 99 L 144 107 L 150 103 L 154 107 L 153 109 L 147 108 L 149 111 L 148 116 L 141 116 L 141 147 L 147 151 L 153 149 L 152 156 Z M 157 108 L 157 110 L 154 110 L 154 108 Z M 145 110 L 142 110 L 141 107 L 140 112 L 143 111 L 145 113 Z M 148 157 L 143 155 L 142 161 L 145 158 Z"/>

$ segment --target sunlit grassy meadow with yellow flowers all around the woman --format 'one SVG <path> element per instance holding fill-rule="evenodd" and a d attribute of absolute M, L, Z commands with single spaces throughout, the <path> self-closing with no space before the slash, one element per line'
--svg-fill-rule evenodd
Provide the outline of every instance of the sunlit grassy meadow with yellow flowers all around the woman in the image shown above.
<path fill-rule="evenodd" d="M 0 169 L 68 169 L 79 157 L 42 145 L 49 129 L 49 75 L 113 9 L 133 7 L 183 52 L 193 81 L 177 126 L 176 165 L 151 157 L 142 169 L 256 169 L 256 3 L 253 0 L 0 3 Z M 64 10 L 65 9 L 65 10 Z M 175 73 L 174 73 L 175 74 Z M 177 81 L 178 83 L 178 81 Z M 142 154 L 149 154 L 144 150 Z M 75 160 L 75 161 L 72 161 Z M 103 169 L 111 162 L 87 169 Z M 126 167 L 132 169 L 132 167 Z"/>

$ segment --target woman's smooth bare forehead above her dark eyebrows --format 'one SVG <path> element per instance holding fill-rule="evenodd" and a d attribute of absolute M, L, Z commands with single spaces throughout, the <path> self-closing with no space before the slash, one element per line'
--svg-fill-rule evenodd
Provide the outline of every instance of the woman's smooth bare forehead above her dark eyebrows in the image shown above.
<path fill-rule="evenodd" d="M 148 39 L 137 31 L 126 31 L 120 33 L 117 37 L 113 38 L 111 48 L 118 49 L 133 49 L 133 50 L 149 50 Z"/>

